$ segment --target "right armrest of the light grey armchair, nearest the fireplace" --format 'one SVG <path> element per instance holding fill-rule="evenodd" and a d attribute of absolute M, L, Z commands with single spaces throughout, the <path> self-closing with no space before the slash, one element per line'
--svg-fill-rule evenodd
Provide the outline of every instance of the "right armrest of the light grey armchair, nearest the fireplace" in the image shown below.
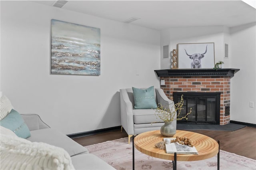
<path fill-rule="evenodd" d="M 163 89 L 156 88 L 156 99 L 157 99 L 157 102 L 163 106 L 163 108 L 167 108 L 167 105 L 168 105 L 170 111 L 175 111 L 174 102 L 168 99 Z"/>

